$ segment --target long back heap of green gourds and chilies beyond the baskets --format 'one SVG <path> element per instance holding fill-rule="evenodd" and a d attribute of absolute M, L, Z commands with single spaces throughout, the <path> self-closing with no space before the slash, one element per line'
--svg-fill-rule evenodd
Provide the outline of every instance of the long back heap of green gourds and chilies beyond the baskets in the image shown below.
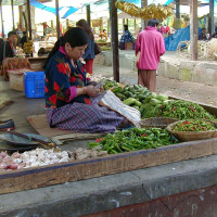
<path fill-rule="evenodd" d="M 201 105 L 183 100 L 169 100 L 167 95 L 150 92 L 140 85 L 123 87 L 114 80 L 106 80 L 103 88 L 111 89 L 123 103 L 141 112 L 142 118 L 171 117 L 177 119 L 215 119 Z"/>

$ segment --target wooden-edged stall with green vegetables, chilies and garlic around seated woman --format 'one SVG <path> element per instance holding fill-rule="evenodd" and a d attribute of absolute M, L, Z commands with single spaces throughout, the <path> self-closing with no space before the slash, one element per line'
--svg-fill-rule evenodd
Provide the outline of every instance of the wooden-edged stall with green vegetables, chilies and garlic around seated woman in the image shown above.
<path fill-rule="evenodd" d="M 119 100 L 117 102 L 124 103 L 126 108 L 129 107 L 128 111 L 141 112 L 142 128 L 133 127 L 114 135 L 100 136 L 95 141 L 86 142 L 85 149 L 65 152 L 61 151 L 64 145 L 58 146 L 42 136 L 25 136 L 13 131 L 9 133 L 9 138 L 4 135 L 1 139 L 8 141 L 4 144 L 5 150 L 10 142 L 13 150 L 28 148 L 33 151 L 23 154 L 15 152 L 11 156 L 1 152 L 1 194 L 217 154 L 215 107 L 168 99 L 137 85 L 123 86 L 105 80 L 103 88 L 112 90 Z M 108 101 L 104 100 L 103 103 Z M 118 110 L 118 103 L 115 103 L 114 110 Z M 110 103 L 107 105 L 110 106 Z M 119 112 L 122 113 L 123 108 Z M 183 123 L 177 126 L 178 130 L 171 128 L 180 120 Z M 165 129 L 166 126 L 170 128 Z M 191 128 L 187 129 L 189 126 Z M 177 137 L 173 130 L 181 135 L 188 132 L 194 137 L 192 139 L 189 136 L 187 140 L 182 140 L 182 137 Z M 20 141 L 16 137 L 26 141 Z M 41 148 L 38 149 L 38 145 Z"/>

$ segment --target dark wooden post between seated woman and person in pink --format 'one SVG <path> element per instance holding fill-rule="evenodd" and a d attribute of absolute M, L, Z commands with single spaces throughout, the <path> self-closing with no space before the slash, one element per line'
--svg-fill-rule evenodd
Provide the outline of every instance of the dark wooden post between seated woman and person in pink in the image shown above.
<path fill-rule="evenodd" d="M 117 29 L 117 8 L 115 2 L 117 0 L 110 0 L 110 20 L 112 33 L 112 52 L 113 52 L 113 76 L 119 82 L 119 55 L 118 55 L 118 29 Z"/>

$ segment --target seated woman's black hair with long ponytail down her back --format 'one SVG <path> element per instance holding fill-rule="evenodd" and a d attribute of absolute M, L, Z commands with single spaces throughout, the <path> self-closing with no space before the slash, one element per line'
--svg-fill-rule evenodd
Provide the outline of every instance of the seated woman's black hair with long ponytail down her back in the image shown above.
<path fill-rule="evenodd" d="M 64 36 L 62 36 L 54 44 L 53 49 L 48 55 L 48 59 L 46 60 L 43 68 L 46 68 L 49 60 L 59 51 L 61 46 L 65 46 L 65 43 L 68 42 L 72 48 L 80 47 L 88 44 L 89 37 L 87 33 L 79 27 L 73 27 L 68 29 Z"/>

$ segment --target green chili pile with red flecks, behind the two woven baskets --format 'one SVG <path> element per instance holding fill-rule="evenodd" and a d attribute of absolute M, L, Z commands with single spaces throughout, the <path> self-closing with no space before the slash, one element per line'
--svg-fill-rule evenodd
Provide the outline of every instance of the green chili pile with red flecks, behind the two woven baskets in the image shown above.
<path fill-rule="evenodd" d="M 144 113 L 143 117 L 173 117 L 177 119 L 215 119 L 201 105 L 183 100 L 168 100 L 162 105 L 155 106 L 152 111 Z"/>

